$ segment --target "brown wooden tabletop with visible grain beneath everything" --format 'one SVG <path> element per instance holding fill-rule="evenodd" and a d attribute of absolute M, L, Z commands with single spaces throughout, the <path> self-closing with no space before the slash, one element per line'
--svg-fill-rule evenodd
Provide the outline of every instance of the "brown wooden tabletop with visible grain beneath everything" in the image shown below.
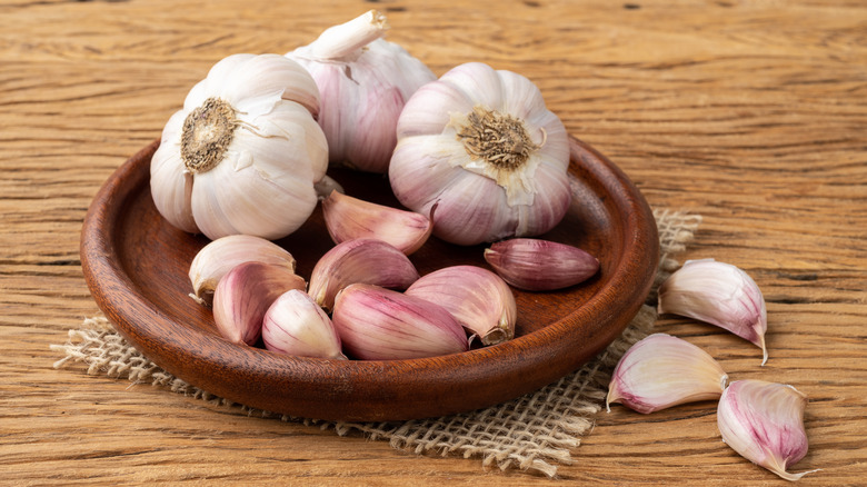
<path fill-rule="evenodd" d="M 79 230 L 109 175 L 159 137 L 217 60 L 286 52 L 372 7 L 437 74 L 484 61 L 529 77 L 651 206 L 702 215 L 679 257 L 756 279 L 770 360 L 759 367 L 758 349 L 687 319 L 658 329 L 733 379 L 809 396 L 810 453 L 795 470 L 824 470 L 800 485 L 867 484 L 863 0 L 3 2 L 0 483 L 550 485 L 51 367 L 49 345 L 97 312 Z M 720 441 L 710 402 L 652 416 L 615 407 L 574 458 L 560 479 L 784 483 Z"/>

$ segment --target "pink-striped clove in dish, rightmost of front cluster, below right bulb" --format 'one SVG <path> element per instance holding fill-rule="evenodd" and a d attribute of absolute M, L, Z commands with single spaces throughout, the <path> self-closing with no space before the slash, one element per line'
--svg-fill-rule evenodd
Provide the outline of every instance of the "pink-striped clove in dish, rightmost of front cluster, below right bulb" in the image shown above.
<path fill-rule="evenodd" d="M 454 266 L 430 272 L 406 292 L 436 302 L 484 345 L 515 337 L 518 307 L 509 286 L 496 274 L 475 266 Z"/>

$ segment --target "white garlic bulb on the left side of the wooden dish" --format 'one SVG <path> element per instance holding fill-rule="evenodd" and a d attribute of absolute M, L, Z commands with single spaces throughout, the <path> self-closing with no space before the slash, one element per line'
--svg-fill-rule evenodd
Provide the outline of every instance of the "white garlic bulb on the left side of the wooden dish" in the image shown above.
<path fill-rule="evenodd" d="M 278 54 L 235 54 L 211 68 L 166 123 L 150 189 L 171 225 L 210 239 L 282 238 L 316 208 L 328 145 L 310 74 Z"/>

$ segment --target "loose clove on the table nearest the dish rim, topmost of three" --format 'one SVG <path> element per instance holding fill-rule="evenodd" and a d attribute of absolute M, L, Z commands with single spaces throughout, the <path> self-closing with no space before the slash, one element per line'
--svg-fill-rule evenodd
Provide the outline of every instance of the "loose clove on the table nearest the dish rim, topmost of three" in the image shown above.
<path fill-rule="evenodd" d="M 768 361 L 765 298 L 756 281 L 730 264 L 688 260 L 659 287 L 658 310 L 725 328 L 761 348 L 761 365 Z"/>

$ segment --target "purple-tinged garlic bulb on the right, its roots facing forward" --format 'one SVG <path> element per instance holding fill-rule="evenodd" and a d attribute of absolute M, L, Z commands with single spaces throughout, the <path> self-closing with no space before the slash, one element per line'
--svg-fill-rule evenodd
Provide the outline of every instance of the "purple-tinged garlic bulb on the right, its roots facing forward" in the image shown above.
<path fill-rule="evenodd" d="M 539 89 L 510 71 L 458 66 L 403 108 L 388 176 L 400 202 L 459 245 L 536 236 L 571 200 L 569 141 Z"/>

